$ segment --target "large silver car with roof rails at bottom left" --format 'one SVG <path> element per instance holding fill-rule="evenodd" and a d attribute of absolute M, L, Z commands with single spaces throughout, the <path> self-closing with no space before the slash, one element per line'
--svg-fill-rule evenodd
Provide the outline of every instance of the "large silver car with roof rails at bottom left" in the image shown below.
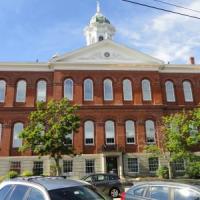
<path fill-rule="evenodd" d="M 4 181 L 0 200 L 105 200 L 84 181 L 58 177 L 33 177 Z"/>

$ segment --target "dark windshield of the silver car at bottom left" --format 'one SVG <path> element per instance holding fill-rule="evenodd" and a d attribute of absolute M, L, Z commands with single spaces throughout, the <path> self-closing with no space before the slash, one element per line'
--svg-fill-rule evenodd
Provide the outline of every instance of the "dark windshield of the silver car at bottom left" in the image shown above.
<path fill-rule="evenodd" d="M 51 200 L 105 200 L 100 194 L 87 186 L 76 186 L 50 190 Z"/>

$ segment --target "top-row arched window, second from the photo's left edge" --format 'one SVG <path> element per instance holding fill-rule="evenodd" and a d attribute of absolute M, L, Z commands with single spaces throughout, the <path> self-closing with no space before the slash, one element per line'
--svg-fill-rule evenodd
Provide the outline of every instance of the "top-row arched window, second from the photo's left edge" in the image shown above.
<path fill-rule="evenodd" d="M 26 81 L 20 80 L 17 82 L 16 102 L 26 101 Z"/>

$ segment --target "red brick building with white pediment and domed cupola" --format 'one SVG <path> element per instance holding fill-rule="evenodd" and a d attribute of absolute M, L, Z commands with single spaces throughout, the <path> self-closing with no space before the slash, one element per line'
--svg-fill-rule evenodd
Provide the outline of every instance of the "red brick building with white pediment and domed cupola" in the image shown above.
<path fill-rule="evenodd" d="M 163 115 L 200 102 L 200 65 L 171 65 L 112 41 L 115 28 L 97 7 L 85 28 L 87 46 L 47 63 L 0 63 L 0 175 L 14 169 L 49 173 L 51 160 L 19 153 L 18 133 L 36 101 L 68 98 L 80 105 L 72 134 L 77 156 L 64 156 L 63 174 L 154 174 L 159 158 L 143 153 L 159 145 Z M 177 163 L 183 170 L 183 163 Z"/>

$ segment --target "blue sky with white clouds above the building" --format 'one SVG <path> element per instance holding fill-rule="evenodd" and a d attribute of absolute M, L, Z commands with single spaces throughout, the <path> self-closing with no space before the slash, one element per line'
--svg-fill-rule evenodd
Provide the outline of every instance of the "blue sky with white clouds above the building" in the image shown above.
<path fill-rule="evenodd" d="M 114 41 L 168 63 L 200 63 L 200 20 L 122 0 L 99 0 L 116 28 Z M 192 12 L 153 0 L 135 0 L 176 12 Z M 163 0 L 200 10 L 200 0 Z M 47 62 L 86 46 L 83 29 L 96 12 L 96 0 L 0 0 L 0 62 Z"/>

